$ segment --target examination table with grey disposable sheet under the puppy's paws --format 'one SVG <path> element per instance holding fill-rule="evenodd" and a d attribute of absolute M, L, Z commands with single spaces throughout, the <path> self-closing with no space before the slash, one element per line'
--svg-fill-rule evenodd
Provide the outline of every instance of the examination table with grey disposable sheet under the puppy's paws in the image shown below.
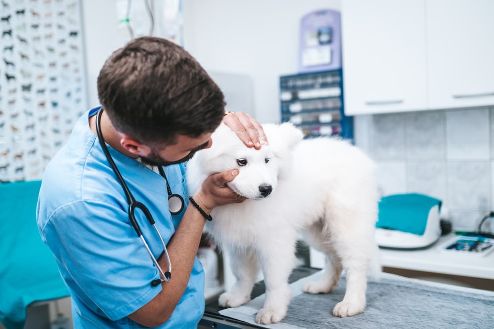
<path fill-rule="evenodd" d="M 335 291 L 326 294 L 302 292 L 303 284 L 321 274 L 319 269 L 301 267 L 290 277 L 292 298 L 287 317 L 280 323 L 261 326 L 255 315 L 264 303 L 264 284 L 257 283 L 246 305 L 225 309 L 217 299 L 206 303 L 200 329 L 287 328 L 287 329 L 405 329 L 405 328 L 494 328 L 494 292 L 464 288 L 383 273 L 370 280 L 367 307 L 353 317 L 331 314 L 343 299 L 345 276 Z"/>

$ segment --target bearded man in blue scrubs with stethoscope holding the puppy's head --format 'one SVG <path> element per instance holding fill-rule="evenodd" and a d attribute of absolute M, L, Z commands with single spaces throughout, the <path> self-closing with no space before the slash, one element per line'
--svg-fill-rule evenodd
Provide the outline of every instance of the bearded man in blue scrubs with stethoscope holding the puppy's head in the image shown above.
<path fill-rule="evenodd" d="M 205 221 L 243 199 L 226 187 L 238 170 L 208 177 L 190 197 L 184 162 L 211 146 L 222 121 L 247 146 L 259 149 L 265 135 L 249 115 L 225 115 L 218 86 L 165 39 L 140 37 L 115 51 L 97 87 L 101 107 L 78 120 L 50 161 L 38 201 L 74 327 L 197 328 Z"/>

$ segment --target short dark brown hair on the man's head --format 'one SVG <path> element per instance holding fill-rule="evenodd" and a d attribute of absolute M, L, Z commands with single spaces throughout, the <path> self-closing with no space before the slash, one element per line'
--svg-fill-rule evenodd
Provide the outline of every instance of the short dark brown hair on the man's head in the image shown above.
<path fill-rule="evenodd" d="M 135 38 L 115 51 L 98 75 L 98 97 L 118 131 L 152 144 L 212 132 L 225 107 L 201 65 L 159 37 Z"/>

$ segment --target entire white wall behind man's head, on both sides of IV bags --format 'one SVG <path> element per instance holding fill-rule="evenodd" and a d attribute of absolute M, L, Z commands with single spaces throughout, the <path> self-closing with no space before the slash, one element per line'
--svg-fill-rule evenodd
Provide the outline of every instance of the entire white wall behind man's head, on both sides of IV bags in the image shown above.
<path fill-rule="evenodd" d="M 161 0 L 155 0 L 161 1 Z M 129 38 L 118 27 L 122 0 L 84 0 L 89 106 L 99 104 L 96 78 L 104 61 Z M 132 1 L 137 6 L 140 1 Z M 184 47 L 208 72 L 244 74 L 260 122 L 280 120 L 279 76 L 297 73 L 300 19 L 341 0 L 183 0 Z M 161 18 L 155 17 L 156 21 Z M 160 31 L 155 33 L 160 36 Z"/>

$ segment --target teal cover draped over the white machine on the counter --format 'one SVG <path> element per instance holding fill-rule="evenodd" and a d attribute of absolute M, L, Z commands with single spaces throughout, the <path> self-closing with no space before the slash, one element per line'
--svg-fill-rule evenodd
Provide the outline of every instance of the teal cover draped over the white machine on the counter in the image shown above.
<path fill-rule="evenodd" d="M 441 204 L 441 200 L 424 194 L 388 195 L 379 201 L 379 219 L 375 226 L 423 235 L 431 208 L 438 205 L 441 211 Z"/>

